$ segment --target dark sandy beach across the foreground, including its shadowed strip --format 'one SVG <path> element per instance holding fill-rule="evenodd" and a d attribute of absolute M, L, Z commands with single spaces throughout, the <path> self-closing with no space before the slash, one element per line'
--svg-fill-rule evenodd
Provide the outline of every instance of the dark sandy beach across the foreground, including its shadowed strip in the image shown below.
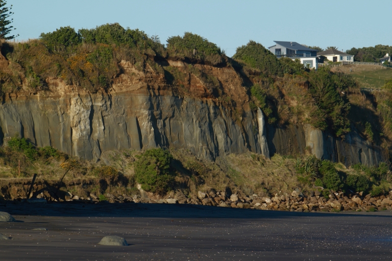
<path fill-rule="evenodd" d="M 0 260 L 390 260 L 392 212 L 295 213 L 169 204 L 7 204 Z M 32 230 L 47 228 L 48 231 Z M 129 246 L 101 246 L 104 236 Z"/>

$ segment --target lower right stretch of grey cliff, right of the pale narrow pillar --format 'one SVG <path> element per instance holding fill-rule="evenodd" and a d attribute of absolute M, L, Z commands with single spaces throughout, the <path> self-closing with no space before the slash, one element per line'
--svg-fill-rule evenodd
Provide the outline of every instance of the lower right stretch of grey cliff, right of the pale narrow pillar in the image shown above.
<path fill-rule="evenodd" d="M 293 155 L 304 154 L 308 150 L 319 159 L 341 162 L 345 166 L 358 163 L 378 166 L 380 162 L 388 161 L 380 146 L 365 140 L 355 130 L 342 139 L 309 124 L 286 128 L 269 126 L 267 138 L 271 153 Z"/>

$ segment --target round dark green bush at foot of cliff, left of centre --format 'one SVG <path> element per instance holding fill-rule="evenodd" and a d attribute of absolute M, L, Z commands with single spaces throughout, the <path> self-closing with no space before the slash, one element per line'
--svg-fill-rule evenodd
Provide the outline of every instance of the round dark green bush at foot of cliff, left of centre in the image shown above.
<path fill-rule="evenodd" d="M 142 189 L 164 194 L 170 189 L 174 178 L 170 172 L 173 156 L 162 148 L 149 149 L 137 156 L 135 162 L 135 180 Z"/>

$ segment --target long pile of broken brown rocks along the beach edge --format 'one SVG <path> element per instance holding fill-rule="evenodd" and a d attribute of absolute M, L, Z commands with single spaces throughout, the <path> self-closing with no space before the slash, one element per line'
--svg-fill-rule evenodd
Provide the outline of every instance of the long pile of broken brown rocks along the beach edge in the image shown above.
<path fill-rule="evenodd" d="M 323 193 L 326 195 L 327 193 Z M 392 191 L 388 195 L 372 196 L 364 195 L 363 192 L 353 193 L 349 196 L 343 192 L 329 191 L 328 197 L 323 196 L 319 190 L 312 191 L 307 195 L 293 191 L 291 194 L 275 194 L 272 197 L 259 196 L 256 194 L 245 195 L 235 193 L 228 195 L 224 191 L 210 190 L 198 191 L 185 195 L 181 190 L 168 196 L 159 198 L 148 197 L 143 190 L 139 194 L 115 196 L 110 193 L 96 196 L 90 193 L 87 198 L 78 197 L 68 193 L 65 201 L 79 201 L 85 203 L 166 203 L 166 204 L 195 204 L 205 206 L 219 206 L 228 208 L 256 209 L 256 210 L 279 210 L 295 212 L 339 212 L 339 211 L 381 211 L 392 209 Z"/>

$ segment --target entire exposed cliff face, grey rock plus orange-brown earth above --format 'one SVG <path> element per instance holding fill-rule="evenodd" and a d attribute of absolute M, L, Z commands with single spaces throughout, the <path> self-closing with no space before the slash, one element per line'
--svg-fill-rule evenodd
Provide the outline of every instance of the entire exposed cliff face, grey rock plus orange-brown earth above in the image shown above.
<path fill-rule="evenodd" d="M 192 73 L 189 95 L 174 95 L 164 76 L 151 68 L 138 71 L 128 62 L 109 91 L 95 94 L 47 79 L 49 89 L 36 94 L 6 95 L 0 106 L 0 138 L 15 133 L 38 146 L 53 146 L 68 154 L 95 160 L 109 150 L 154 147 L 187 148 L 200 158 L 214 159 L 248 150 L 266 157 L 274 153 L 303 154 L 345 165 L 378 165 L 382 149 L 356 132 L 338 139 L 309 125 L 285 129 L 265 126 L 253 113 L 241 76 L 232 68 L 194 65 L 214 75 L 223 93 L 237 104 L 231 108 L 210 96 L 210 89 Z M 171 66 L 186 66 L 171 62 Z M 241 113 L 234 115 L 241 107 Z"/>

